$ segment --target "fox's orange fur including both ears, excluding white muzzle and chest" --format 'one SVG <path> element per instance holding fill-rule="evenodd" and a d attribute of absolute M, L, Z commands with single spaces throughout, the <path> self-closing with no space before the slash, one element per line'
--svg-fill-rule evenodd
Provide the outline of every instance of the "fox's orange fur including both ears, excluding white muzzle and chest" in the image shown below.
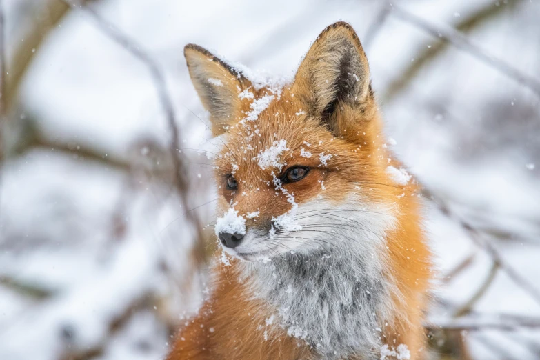
<path fill-rule="evenodd" d="M 343 41 L 348 41 L 346 44 L 352 44 L 358 52 L 355 66 L 361 73 L 356 82 L 346 83 L 348 88 L 357 86 L 354 89 L 357 99 L 339 99 L 332 113 L 326 114 L 325 105 L 339 96 L 332 92 L 333 88 L 325 88 L 325 83 L 327 79 L 341 81 L 339 77 L 343 74 L 337 74 L 332 65 L 337 61 L 332 51 Z M 336 23 L 319 36 L 292 85 L 283 88 L 279 98 L 276 95 L 259 114 L 256 127 L 259 132 L 252 137 L 257 145 L 252 149 L 246 139 L 254 128 L 246 129 L 239 123 L 250 111 L 251 101 L 239 98 L 238 93 L 248 89 L 257 99 L 273 94 L 272 90 L 254 90 L 241 72 L 197 46 L 186 46 L 186 59 L 197 92 L 210 111 L 214 132 L 228 132 L 226 148 L 217 159 L 218 184 L 223 185 L 226 174 L 231 172 L 239 180 L 237 192 L 221 186 L 219 208 L 226 209 L 234 201 L 234 209 L 240 214 L 259 211 L 256 219 L 246 219 L 247 228 L 270 223 L 272 217 L 291 209 L 285 194 L 277 192 L 274 186 L 265 185 L 266 182 L 272 184 L 272 172 L 277 170 L 261 170 L 253 160 L 257 153 L 278 139 L 287 140 L 289 150 L 281 154 L 287 166 L 303 165 L 311 169 L 302 181 L 286 185 L 297 203 L 313 200 L 321 192 L 328 201 L 340 203 L 348 194 L 357 193 L 372 203 L 392 206 L 396 224 L 386 233 L 389 267 L 384 276 L 395 283 L 399 292 L 392 298 L 394 318 L 384 319 L 387 326 L 382 324 L 381 336 L 390 348 L 404 343 L 411 352 L 411 359 L 421 359 L 430 252 L 421 226 L 418 188 L 414 181 L 403 186 L 388 178 L 386 168 L 389 165 L 400 168 L 400 164 L 392 159 L 384 145 L 383 124 L 370 88 L 368 62 L 354 30 L 346 23 Z M 217 79 L 222 86 L 212 88 L 203 77 Z M 321 126 L 321 119 L 328 122 L 326 127 Z M 309 149 L 305 142 L 310 143 Z M 301 148 L 314 154 L 330 152 L 332 161 L 328 161 L 328 166 L 320 166 L 317 157 L 299 156 Z M 234 161 L 229 160 L 233 158 Z M 324 191 L 321 181 L 326 186 Z M 355 186 L 357 183 L 364 185 L 361 190 Z M 181 329 L 168 360 L 317 359 L 319 355 L 315 350 L 288 336 L 285 330 L 277 330 L 270 341 L 263 341 L 261 324 L 272 312 L 268 304 L 254 300 L 249 289 L 239 281 L 238 263 L 239 260 L 234 260 L 231 266 L 224 266 L 215 262 L 210 299 Z M 362 354 L 351 356 L 363 359 Z"/>

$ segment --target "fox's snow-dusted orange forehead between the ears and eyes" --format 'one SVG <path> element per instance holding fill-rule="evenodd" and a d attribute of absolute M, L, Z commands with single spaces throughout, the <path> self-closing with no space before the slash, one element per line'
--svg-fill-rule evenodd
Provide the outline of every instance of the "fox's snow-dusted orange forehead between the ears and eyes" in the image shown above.
<path fill-rule="evenodd" d="M 279 177 L 288 166 L 326 168 L 328 160 L 337 157 L 335 152 L 343 145 L 338 145 L 340 139 L 302 110 L 293 95 L 284 88 L 256 116 L 252 104 L 268 96 L 245 101 L 241 111 L 245 116 L 228 127 L 223 139 L 219 172 L 234 174 L 238 179 L 257 175 L 257 179 L 268 181 Z M 330 154 L 332 148 L 334 154 Z"/>

